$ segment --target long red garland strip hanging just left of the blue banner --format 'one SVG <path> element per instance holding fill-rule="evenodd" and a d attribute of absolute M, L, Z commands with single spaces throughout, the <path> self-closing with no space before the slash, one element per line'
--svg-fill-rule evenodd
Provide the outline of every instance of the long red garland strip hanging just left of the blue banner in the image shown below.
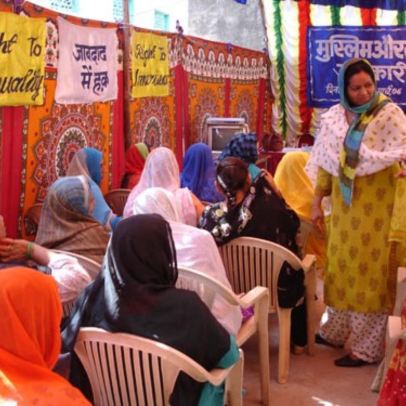
<path fill-rule="evenodd" d="M 311 108 L 307 107 L 306 86 L 307 86 L 307 27 L 311 26 L 310 4 L 307 1 L 300 1 L 298 5 L 299 20 L 299 115 L 302 122 L 301 132 L 309 132 L 311 122 Z"/>

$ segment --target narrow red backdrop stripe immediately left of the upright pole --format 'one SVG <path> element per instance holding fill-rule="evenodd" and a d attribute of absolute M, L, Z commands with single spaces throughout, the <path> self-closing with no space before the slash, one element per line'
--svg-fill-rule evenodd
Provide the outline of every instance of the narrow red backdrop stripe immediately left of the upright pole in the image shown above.
<path fill-rule="evenodd" d="M 113 104 L 113 168 L 112 188 L 117 189 L 121 185 L 124 175 L 125 146 L 124 146 L 124 76 L 123 71 L 117 71 L 118 95 Z"/>

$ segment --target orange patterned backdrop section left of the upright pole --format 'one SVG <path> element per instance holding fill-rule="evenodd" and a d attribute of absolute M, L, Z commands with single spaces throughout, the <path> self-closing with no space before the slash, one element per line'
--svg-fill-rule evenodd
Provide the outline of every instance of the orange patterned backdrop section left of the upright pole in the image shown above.
<path fill-rule="evenodd" d="M 120 97 L 123 86 L 122 51 L 119 49 L 117 60 L 117 100 L 92 104 L 58 104 L 54 96 L 58 52 L 56 19 L 59 14 L 28 2 L 20 14 L 30 18 L 46 18 L 45 103 L 42 106 L 10 107 L 12 114 L 3 120 L 3 129 L 9 129 L 7 139 L 13 140 L 13 143 L 2 143 L 4 148 L 1 151 L 2 158 L 9 161 L 7 166 L 13 168 L 9 172 L 12 179 L 6 179 L 4 188 L 2 185 L 2 200 L 7 200 L 6 209 L 2 205 L 2 214 L 11 236 L 25 236 L 22 221 L 24 214 L 34 203 L 44 201 L 50 185 L 66 174 L 73 155 L 80 148 L 93 147 L 102 151 L 106 163 L 105 176 L 100 185 L 103 192 L 119 187 L 124 155 L 123 99 Z M 81 26 L 118 28 L 117 24 L 76 17 L 66 19 Z M 120 39 L 119 32 L 117 35 Z M 10 120 L 13 123 L 9 123 Z M 7 155 L 12 155 L 12 158 L 6 158 Z M 4 178 L 2 174 L 2 180 Z M 4 199 L 6 192 L 7 198 Z M 17 230 L 13 230 L 16 224 Z"/>

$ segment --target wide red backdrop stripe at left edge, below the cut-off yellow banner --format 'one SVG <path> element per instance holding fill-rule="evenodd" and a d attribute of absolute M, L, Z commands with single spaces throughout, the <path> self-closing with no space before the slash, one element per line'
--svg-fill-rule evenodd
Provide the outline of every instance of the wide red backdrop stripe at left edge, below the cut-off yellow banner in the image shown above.
<path fill-rule="evenodd" d="M 7 236 L 17 238 L 21 194 L 24 107 L 3 107 L 0 201 Z"/>

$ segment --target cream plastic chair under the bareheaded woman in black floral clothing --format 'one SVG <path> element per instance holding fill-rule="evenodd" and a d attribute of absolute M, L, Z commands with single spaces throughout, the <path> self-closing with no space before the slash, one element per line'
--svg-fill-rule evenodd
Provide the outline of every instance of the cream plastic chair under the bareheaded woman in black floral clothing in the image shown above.
<path fill-rule="evenodd" d="M 307 354 L 315 350 L 316 259 L 306 255 L 301 261 L 288 249 L 274 242 L 252 237 L 239 237 L 220 247 L 227 277 L 236 294 L 249 292 L 256 286 L 269 289 L 269 313 L 278 313 L 279 365 L 278 382 L 286 383 L 289 375 L 290 315 L 292 309 L 278 306 L 277 281 L 284 261 L 294 269 L 304 270 L 307 313 Z"/>

